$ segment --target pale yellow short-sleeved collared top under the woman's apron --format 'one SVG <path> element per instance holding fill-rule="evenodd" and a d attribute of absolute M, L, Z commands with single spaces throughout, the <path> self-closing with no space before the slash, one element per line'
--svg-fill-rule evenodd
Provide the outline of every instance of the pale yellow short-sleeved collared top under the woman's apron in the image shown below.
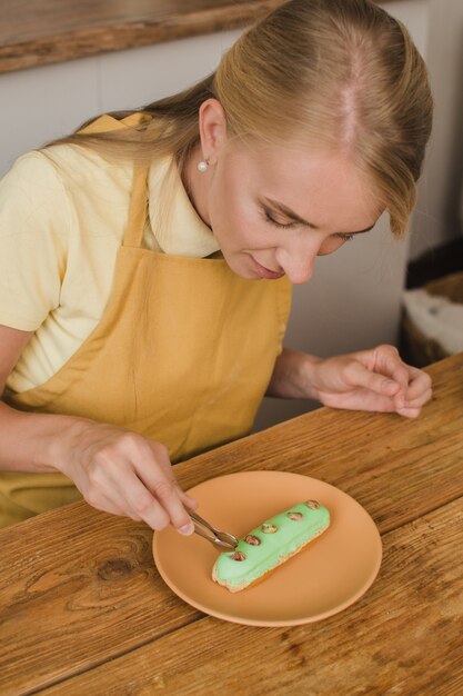
<path fill-rule="evenodd" d="M 168 178 L 169 220 L 159 226 L 169 165 L 163 159 L 150 168 L 144 246 L 209 256 L 219 246 L 177 171 Z M 20 157 L 0 181 L 0 324 L 34 331 L 8 379 L 12 390 L 43 384 L 99 322 L 125 231 L 132 173 L 130 163 L 63 145 Z"/>

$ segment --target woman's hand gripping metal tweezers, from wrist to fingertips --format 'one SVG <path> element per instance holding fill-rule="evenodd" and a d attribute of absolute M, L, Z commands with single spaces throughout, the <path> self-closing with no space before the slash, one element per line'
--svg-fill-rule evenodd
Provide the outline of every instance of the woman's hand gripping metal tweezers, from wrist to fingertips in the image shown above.
<path fill-rule="evenodd" d="M 78 420 L 56 444 L 57 468 L 91 506 L 143 520 L 152 529 L 172 524 L 181 534 L 192 534 L 185 507 L 194 509 L 198 503 L 179 487 L 161 443 L 117 426 Z"/>

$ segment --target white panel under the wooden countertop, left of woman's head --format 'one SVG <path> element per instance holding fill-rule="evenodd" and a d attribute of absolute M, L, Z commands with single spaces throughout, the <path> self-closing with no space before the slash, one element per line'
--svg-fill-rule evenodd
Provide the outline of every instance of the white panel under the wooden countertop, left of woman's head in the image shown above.
<path fill-rule="evenodd" d="M 1 12 L 0 12 L 1 18 Z M 240 31 L 0 74 L 0 176 L 16 158 L 104 111 L 179 91 L 213 70 Z"/>

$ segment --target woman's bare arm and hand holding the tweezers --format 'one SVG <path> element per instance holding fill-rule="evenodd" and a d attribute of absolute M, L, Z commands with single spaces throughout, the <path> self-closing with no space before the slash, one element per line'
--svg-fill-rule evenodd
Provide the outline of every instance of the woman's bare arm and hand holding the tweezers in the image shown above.
<path fill-rule="evenodd" d="M 0 325 L 0 396 L 32 331 Z M 24 434 L 26 437 L 24 437 Z M 19 411 L 0 401 L 0 471 L 62 471 L 93 507 L 193 531 L 167 448 L 115 426 L 59 414 Z"/>

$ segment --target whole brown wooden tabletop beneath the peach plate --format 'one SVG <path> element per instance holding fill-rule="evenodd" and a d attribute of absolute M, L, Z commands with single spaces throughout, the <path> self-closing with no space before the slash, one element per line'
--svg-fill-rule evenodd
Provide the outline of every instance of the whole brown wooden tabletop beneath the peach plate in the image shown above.
<path fill-rule="evenodd" d="M 0 531 L 1 696 L 461 695 L 463 354 L 429 371 L 415 421 L 322 408 L 175 469 L 184 487 L 294 471 L 356 498 L 384 548 L 356 604 L 292 628 L 205 616 L 164 585 L 145 526 L 79 503 Z"/>

